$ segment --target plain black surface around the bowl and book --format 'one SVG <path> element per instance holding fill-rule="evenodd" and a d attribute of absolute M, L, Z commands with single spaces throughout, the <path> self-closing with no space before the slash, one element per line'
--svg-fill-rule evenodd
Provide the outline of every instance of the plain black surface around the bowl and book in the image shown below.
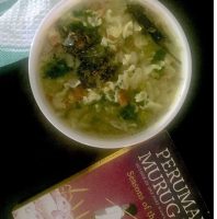
<path fill-rule="evenodd" d="M 168 131 L 213 212 L 213 2 L 162 2 L 182 23 L 193 55 L 190 93 Z M 71 142 L 44 120 L 30 89 L 27 59 L 0 68 L 0 219 L 112 152 Z"/>

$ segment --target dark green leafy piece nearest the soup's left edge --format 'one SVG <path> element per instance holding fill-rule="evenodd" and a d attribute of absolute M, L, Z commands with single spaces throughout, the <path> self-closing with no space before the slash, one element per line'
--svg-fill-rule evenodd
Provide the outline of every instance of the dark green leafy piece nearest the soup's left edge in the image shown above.
<path fill-rule="evenodd" d="M 57 79 L 59 77 L 65 76 L 71 70 L 70 67 L 67 66 L 65 59 L 59 59 L 56 56 L 44 66 L 45 78 Z"/>

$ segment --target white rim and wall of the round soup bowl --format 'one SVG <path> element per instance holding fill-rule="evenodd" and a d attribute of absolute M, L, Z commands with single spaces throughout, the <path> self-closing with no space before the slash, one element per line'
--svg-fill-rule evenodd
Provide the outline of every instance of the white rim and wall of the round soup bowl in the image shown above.
<path fill-rule="evenodd" d="M 133 146 L 136 143 L 140 143 L 150 139 L 151 137 L 159 134 L 163 130 L 175 117 L 178 112 L 180 111 L 181 106 L 184 103 L 184 100 L 187 94 L 187 90 L 190 87 L 191 74 L 192 74 L 192 57 L 190 51 L 190 46 L 186 39 L 186 36 L 173 16 L 173 14 L 159 1 L 157 0 L 139 0 L 141 4 L 150 8 L 153 11 L 157 11 L 159 16 L 161 16 L 173 30 L 173 34 L 179 38 L 181 46 L 183 47 L 182 51 L 182 83 L 179 89 L 179 93 L 176 99 L 174 100 L 173 104 L 171 105 L 170 110 L 167 114 L 164 114 L 158 123 L 150 126 L 148 129 L 140 131 L 134 136 L 124 137 L 121 139 L 98 139 L 96 137 L 87 136 L 83 132 L 78 130 L 72 130 L 70 127 L 65 125 L 60 118 L 58 118 L 52 106 L 48 104 L 45 94 L 43 92 L 42 84 L 39 82 L 39 73 L 38 73 L 38 58 L 39 53 L 43 47 L 43 42 L 47 34 L 47 30 L 69 9 L 72 9 L 75 5 L 80 3 L 81 0 L 64 0 L 58 3 L 44 19 L 39 28 L 37 30 L 35 37 L 33 39 L 33 44 L 31 47 L 30 53 L 30 61 L 28 61 L 28 73 L 30 73 L 30 82 L 31 88 L 36 100 L 37 105 L 39 106 L 41 111 L 45 115 L 45 117 L 62 134 L 68 136 L 69 138 L 81 142 L 83 145 L 98 147 L 98 148 L 121 148 Z"/>

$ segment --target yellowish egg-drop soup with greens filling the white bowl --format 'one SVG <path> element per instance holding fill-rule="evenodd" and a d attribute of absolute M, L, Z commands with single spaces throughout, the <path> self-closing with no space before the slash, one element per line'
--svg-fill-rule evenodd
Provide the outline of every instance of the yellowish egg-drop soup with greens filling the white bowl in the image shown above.
<path fill-rule="evenodd" d="M 39 73 L 72 129 L 133 135 L 157 123 L 181 83 L 181 48 L 163 19 L 135 1 L 85 2 L 48 32 Z"/>

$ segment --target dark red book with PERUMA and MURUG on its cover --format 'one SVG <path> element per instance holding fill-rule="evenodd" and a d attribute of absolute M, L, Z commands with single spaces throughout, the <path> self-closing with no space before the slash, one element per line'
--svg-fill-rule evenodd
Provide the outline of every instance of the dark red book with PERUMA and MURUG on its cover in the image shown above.
<path fill-rule="evenodd" d="M 33 197 L 14 219 L 203 219 L 209 211 L 167 132 Z"/>

